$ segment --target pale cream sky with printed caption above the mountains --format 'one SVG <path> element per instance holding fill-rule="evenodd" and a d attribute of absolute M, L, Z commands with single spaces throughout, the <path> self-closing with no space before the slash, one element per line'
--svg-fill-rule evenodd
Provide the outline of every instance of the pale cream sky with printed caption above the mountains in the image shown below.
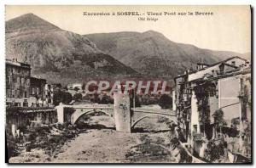
<path fill-rule="evenodd" d="M 141 16 L 89 16 L 87 13 L 138 12 Z M 147 12 L 170 15 L 148 16 Z M 188 15 L 188 13 L 193 15 Z M 212 15 L 195 15 L 210 12 Z M 173 42 L 199 48 L 249 53 L 251 12 L 249 6 L 9 6 L 5 20 L 22 14 L 36 14 L 63 30 L 81 35 L 119 31 L 159 31 Z M 173 13 L 176 13 L 173 15 Z M 178 15 L 186 13 L 186 15 Z M 144 15 L 143 15 L 144 14 Z M 145 17 L 146 20 L 138 20 Z M 157 21 L 147 20 L 154 17 Z"/>

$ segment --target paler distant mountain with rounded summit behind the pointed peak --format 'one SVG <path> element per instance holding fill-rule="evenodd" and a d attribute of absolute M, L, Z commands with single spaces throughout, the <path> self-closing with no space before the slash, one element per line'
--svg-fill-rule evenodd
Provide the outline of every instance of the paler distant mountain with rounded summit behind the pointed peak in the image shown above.
<path fill-rule="evenodd" d="M 213 64 L 241 53 L 212 51 L 172 42 L 156 31 L 114 32 L 84 35 L 97 48 L 146 76 L 172 78 L 195 64 Z"/>

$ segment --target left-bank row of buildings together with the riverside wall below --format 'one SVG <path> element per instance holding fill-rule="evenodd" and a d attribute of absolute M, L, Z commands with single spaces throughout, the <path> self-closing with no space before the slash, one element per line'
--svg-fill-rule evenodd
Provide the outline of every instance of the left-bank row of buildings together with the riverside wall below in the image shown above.
<path fill-rule="evenodd" d="M 20 128 L 55 123 L 53 90 L 46 80 L 31 76 L 30 64 L 6 59 L 6 132 L 19 136 Z M 17 135 L 17 136 L 16 136 Z"/>

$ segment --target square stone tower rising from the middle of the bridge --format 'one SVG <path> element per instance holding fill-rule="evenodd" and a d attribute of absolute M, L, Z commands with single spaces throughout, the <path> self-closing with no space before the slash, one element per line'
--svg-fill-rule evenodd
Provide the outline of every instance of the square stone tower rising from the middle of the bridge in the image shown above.
<path fill-rule="evenodd" d="M 113 100 L 116 131 L 131 132 L 131 109 L 129 94 L 113 92 Z"/>

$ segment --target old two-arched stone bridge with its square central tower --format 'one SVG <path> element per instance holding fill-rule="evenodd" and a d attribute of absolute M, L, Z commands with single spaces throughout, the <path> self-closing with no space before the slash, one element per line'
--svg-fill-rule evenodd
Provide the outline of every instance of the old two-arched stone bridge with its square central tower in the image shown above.
<path fill-rule="evenodd" d="M 73 108 L 74 112 L 65 115 L 65 108 Z M 149 109 L 149 108 L 130 108 L 129 95 L 114 94 L 114 104 L 79 104 L 63 105 L 56 107 L 58 121 L 60 123 L 70 121 L 75 124 L 83 115 L 90 115 L 102 112 L 113 118 L 116 130 L 119 132 L 131 132 L 140 120 L 148 117 L 163 116 L 177 124 L 175 112 L 170 109 Z"/>

